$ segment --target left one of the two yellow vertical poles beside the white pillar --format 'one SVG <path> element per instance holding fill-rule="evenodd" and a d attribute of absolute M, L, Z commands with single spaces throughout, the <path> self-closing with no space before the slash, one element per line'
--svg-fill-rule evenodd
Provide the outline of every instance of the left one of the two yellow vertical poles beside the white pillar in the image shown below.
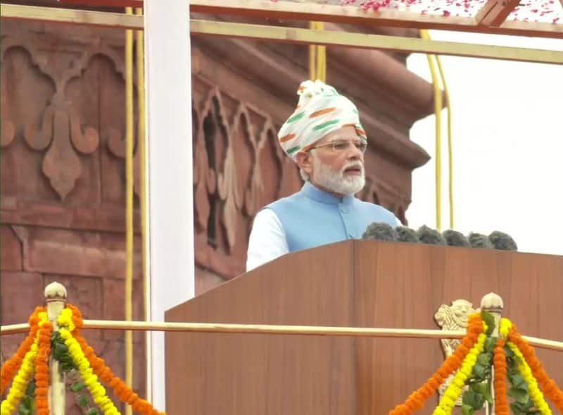
<path fill-rule="evenodd" d="M 127 14 L 133 9 L 127 7 Z M 133 318 L 133 31 L 125 32 L 125 320 Z M 133 333 L 125 332 L 125 383 L 133 385 Z M 132 414 L 129 405 L 125 407 L 125 414 Z"/>

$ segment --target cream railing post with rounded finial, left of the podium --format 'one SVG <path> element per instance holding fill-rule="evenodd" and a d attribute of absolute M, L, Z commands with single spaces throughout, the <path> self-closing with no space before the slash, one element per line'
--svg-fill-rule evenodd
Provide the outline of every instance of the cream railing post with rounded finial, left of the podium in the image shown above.
<path fill-rule="evenodd" d="M 66 304 L 66 289 L 60 283 L 51 283 L 45 287 L 47 318 L 53 323 L 53 331 L 58 330 L 57 318 Z M 65 414 L 65 374 L 58 361 L 49 357 L 49 411 L 53 415 Z"/>

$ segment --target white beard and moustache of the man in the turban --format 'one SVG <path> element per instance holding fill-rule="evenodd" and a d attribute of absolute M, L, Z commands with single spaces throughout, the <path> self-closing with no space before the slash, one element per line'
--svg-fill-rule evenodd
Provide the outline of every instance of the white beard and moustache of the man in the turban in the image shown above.
<path fill-rule="evenodd" d="M 336 171 L 331 166 L 322 163 L 317 157 L 312 158 L 313 171 L 315 171 L 315 182 L 325 189 L 345 196 L 352 196 L 360 192 L 365 186 L 365 170 L 359 161 L 350 161 L 341 171 Z M 350 167 L 360 167 L 361 175 L 346 177 L 344 171 Z"/>

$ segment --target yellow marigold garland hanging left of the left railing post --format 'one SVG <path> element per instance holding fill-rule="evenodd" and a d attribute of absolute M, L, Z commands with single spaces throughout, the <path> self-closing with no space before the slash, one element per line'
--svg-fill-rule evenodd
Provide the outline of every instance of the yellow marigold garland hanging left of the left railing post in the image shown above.
<path fill-rule="evenodd" d="M 15 409 L 20 404 L 20 400 L 22 399 L 23 395 L 25 395 L 25 389 L 27 388 L 27 383 L 30 382 L 32 378 L 32 373 L 34 370 L 34 359 L 37 356 L 37 351 L 39 350 L 39 335 L 37 334 L 37 330 L 39 329 L 39 324 L 44 323 L 46 321 L 46 314 L 41 309 L 36 309 L 34 314 L 33 323 L 35 327 L 34 330 L 34 338 L 33 343 L 30 346 L 30 349 L 25 353 L 21 361 L 21 366 L 18 370 L 18 374 L 15 375 L 13 378 L 12 386 L 10 388 L 10 392 L 8 392 L 8 396 L 6 400 L 2 401 L 0 405 L 0 415 L 12 415 Z M 32 318 L 30 318 L 31 323 Z M 31 330 L 30 330 L 31 331 Z"/>

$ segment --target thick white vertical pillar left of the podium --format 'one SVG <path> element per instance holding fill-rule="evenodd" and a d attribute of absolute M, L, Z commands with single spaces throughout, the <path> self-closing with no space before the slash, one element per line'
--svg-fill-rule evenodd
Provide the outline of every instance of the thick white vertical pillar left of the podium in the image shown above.
<path fill-rule="evenodd" d="M 151 321 L 194 297 L 188 0 L 144 1 Z M 148 396 L 165 410 L 164 334 L 152 333 Z M 150 354 L 149 354 L 150 353 Z"/>

